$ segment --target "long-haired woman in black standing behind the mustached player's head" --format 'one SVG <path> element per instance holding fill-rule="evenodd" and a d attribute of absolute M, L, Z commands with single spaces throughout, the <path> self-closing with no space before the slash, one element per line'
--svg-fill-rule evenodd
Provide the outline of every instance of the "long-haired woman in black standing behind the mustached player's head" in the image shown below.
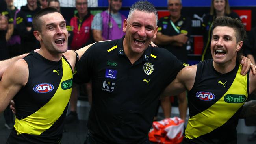
<path fill-rule="evenodd" d="M 201 61 L 212 58 L 210 50 L 212 24 L 216 18 L 223 16 L 240 19 L 237 13 L 230 10 L 228 0 L 211 0 L 210 13 L 204 16 L 202 22 L 204 47 L 202 49 Z"/>

